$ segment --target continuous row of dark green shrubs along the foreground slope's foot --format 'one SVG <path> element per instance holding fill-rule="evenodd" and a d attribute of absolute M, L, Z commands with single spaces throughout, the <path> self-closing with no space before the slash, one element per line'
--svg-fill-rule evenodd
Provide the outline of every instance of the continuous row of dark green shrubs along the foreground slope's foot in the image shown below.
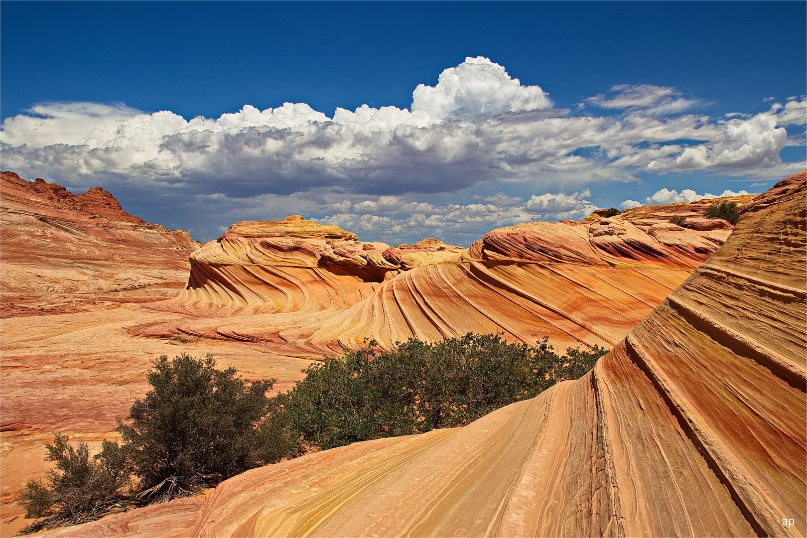
<path fill-rule="evenodd" d="M 247 469 L 316 449 L 379 437 L 464 426 L 556 382 L 576 379 L 605 349 L 568 348 L 545 337 L 514 344 L 500 335 L 410 339 L 382 351 L 374 341 L 305 370 L 292 390 L 267 398 L 274 380 L 245 382 L 186 353 L 165 355 L 148 372 L 152 386 L 132 405 L 101 453 L 56 434 L 50 482 L 28 482 L 19 497 L 35 523 L 23 532 L 83 523 L 128 507 L 190 494 Z"/>

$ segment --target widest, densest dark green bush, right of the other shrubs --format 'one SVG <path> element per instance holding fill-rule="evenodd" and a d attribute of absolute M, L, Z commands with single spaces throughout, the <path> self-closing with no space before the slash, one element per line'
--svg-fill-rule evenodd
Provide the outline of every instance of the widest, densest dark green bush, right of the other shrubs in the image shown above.
<path fill-rule="evenodd" d="M 464 426 L 582 376 L 605 352 L 569 348 L 559 356 L 546 338 L 533 346 L 495 334 L 436 344 L 410 339 L 388 352 L 371 341 L 310 366 L 303 381 L 278 396 L 282 407 L 268 422 L 285 423 L 295 453 Z"/>

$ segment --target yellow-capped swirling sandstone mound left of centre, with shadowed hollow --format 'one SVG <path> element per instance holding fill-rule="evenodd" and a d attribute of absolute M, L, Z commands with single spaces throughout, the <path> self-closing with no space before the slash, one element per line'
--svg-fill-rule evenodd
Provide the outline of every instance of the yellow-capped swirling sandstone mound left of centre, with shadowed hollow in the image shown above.
<path fill-rule="evenodd" d="M 223 315 L 342 311 L 399 270 L 460 251 L 438 240 L 400 248 L 364 243 L 299 215 L 235 223 L 191 254 L 187 289 L 160 308 Z"/>

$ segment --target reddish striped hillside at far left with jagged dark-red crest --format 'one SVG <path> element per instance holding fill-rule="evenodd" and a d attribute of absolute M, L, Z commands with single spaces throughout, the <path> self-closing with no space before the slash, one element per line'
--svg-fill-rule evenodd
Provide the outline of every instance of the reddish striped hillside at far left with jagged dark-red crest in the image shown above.
<path fill-rule="evenodd" d="M 185 287 L 190 234 L 146 223 L 100 187 L 0 173 L 0 315 L 64 314 L 163 300 Z"/>

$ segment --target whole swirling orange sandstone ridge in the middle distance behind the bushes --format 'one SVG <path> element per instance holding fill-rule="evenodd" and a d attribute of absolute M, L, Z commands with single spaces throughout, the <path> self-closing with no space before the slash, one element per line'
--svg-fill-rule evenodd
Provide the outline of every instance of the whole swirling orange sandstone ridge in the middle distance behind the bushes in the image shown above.
<path fill-rule="evenodd" d="M 730 223 L 703 218 L 712 202 L 517 224 L 467 249 L 365 243 L 299 215 L 236 223 L 190 256 L 187 290 L 152 306 L 186 319 L 132 334 L 245 340 L 307 358 L 366 338 L 389 346 L 466 332 L 611 348 L 730 235 Z"/>

